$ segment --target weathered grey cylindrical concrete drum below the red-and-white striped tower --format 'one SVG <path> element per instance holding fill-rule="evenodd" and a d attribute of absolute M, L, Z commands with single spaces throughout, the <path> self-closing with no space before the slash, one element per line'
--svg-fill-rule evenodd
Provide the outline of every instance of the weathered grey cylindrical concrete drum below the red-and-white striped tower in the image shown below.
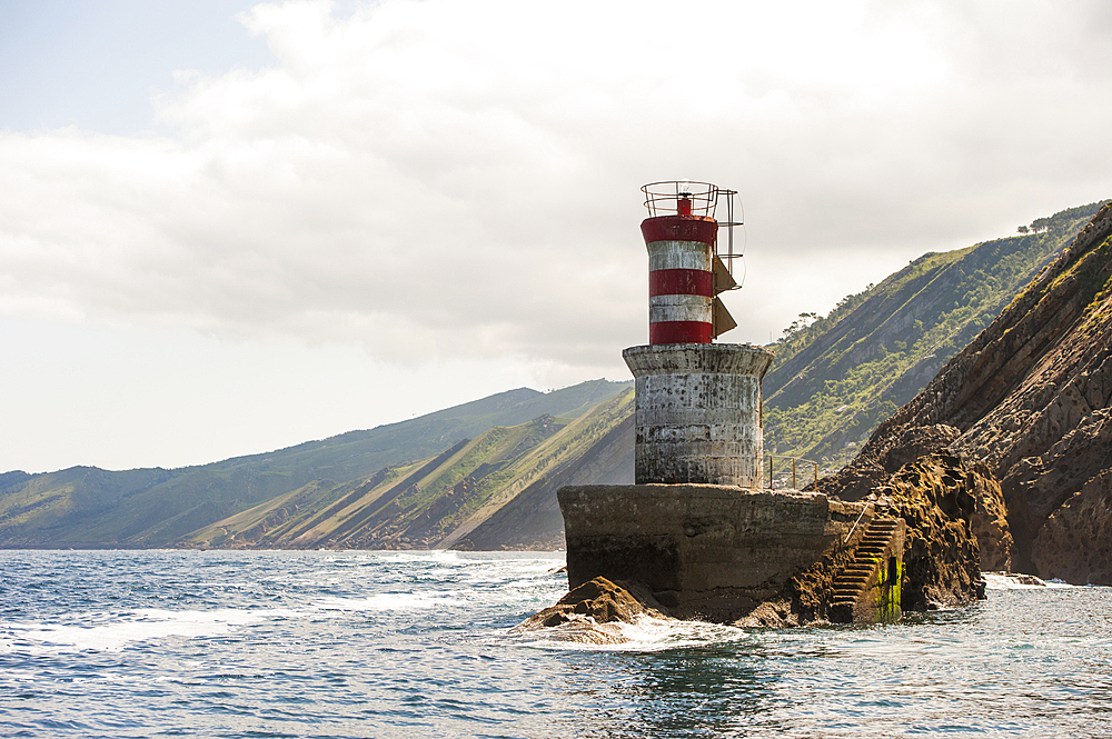
<path fill-rule="evenodd" d="M 761 483 L 761 378 L 749 344 L 656 344 L 622 352 L 637 383 L 638 485 Z"/>

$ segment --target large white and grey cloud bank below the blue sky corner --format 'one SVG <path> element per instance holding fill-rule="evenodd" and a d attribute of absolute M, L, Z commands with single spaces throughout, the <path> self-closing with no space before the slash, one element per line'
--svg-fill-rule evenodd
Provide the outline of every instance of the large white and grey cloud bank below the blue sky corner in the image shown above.
<path fill-rule="evenodd" d="M 0 311 L 612 376 L 642 182 L 734 187 L 761 341 L 926 250 L 1112 193 L 1103 3 L 324 1 L 182 73 L 167 137 L 0 132 Z"/>

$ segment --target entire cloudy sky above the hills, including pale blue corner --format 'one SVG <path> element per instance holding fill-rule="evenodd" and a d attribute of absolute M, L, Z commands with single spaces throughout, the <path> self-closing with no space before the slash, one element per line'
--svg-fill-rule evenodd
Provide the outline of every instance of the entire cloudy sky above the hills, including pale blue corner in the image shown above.
<path fill-rule="evenodd" d="M 1112 197 L 1112 3 L 0 0 L 0 470 L 628 379 L 639 187 L 738 191 L 723 341 Z"/>

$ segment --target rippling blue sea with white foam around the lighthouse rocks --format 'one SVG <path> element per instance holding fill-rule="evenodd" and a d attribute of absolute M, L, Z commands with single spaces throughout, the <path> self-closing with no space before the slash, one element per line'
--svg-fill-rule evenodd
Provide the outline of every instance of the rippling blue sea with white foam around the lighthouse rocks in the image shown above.
<path fill-rule="evenodd" d="M 892 626 L 515 627 L 563 553 L 0 551 L 0 737 L 1112 737 L 1112 589 Z"/>

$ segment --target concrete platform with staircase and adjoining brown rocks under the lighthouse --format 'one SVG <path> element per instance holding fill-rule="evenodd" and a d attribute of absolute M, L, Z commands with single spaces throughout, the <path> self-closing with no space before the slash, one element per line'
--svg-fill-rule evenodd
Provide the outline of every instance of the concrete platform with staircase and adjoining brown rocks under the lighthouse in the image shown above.
<path fill-rule="evenodd" d="M 984 587 L 973 523 L 981 483 L 962 460 L 937 457 L 904 466 L 858 502 L 708 485 L 566 487 L 570 591 L 523 628 L 644 613 L 738 626 L 867 622 L 898 618 L 901 602 L 970 602 Z M 882 530 L 891 532 L 883 540 Z"/>

